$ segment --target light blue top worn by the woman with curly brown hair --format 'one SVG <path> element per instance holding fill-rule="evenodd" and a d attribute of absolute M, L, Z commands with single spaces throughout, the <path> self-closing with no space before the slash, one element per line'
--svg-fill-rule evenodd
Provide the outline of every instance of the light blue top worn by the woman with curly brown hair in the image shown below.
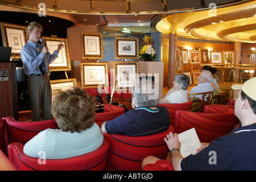
<path fill-rule="evenodd" d="M 47 129 L 29 140 L 23 151 L 33 158 L 65 159 L 97 150 L 103 140 L 104 136 L 96 123 L 80 133 Z"/>

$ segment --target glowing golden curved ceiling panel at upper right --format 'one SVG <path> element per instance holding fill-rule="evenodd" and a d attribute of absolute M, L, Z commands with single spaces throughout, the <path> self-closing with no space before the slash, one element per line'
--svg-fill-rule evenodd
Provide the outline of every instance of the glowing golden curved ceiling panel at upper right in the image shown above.
<path fill-rule="evenodd" d="M 155 30 L 169 34 L 171 23 L 177 23 L 177 35 L 189 38 L 255 43 L 256 3 L 232 7 L 166 15 L 156 20 Z"/>

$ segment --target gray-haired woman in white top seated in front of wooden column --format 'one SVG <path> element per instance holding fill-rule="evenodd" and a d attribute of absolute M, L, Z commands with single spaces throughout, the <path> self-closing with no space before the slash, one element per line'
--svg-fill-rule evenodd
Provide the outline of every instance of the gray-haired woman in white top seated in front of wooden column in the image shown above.
<path fill-rule="evenodd" d="M 174 87 L 159 101 L 160 104 L 181 104 L 188 102 L 188 86 L 190 78 L 179 74 L 174 76 Z"/>

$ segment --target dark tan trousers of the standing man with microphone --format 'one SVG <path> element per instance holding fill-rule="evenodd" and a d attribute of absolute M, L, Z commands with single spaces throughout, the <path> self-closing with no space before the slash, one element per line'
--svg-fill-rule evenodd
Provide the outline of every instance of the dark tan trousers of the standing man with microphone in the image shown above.
<path fill-rule="evenodd" d="M 51 84 L 49 76 L 28 76 L 28 95 L 30 96 L 30 106 L 33 121 L 51 119 Z"/>

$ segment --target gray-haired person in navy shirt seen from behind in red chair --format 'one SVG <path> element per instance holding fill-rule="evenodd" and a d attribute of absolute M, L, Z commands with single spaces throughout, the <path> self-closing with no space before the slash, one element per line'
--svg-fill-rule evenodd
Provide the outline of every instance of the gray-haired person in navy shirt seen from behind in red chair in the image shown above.
<path fill-rule="evenodd" d="M 102 132 L 146 136 L 166 131 L 171 123 L 170 115 L 166 107 L 158 106 L 158 97 L 158 88 L 154 87 L 154 82 L 140 81 L 133 91 L 134 110 L 102 123 Z"/>

